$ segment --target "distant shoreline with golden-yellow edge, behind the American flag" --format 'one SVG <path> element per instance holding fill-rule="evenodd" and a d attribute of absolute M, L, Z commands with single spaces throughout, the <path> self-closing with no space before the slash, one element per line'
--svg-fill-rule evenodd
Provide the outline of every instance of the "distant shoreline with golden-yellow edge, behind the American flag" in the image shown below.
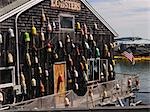
<path fill-rule="evenodd" d="M 116 59 L 126 59 L 122 53 L 127 51 L 132 53 L 135 61 L 150 61 L 150 40 L 141 37 L 120 37 L 115 40 Z"/>

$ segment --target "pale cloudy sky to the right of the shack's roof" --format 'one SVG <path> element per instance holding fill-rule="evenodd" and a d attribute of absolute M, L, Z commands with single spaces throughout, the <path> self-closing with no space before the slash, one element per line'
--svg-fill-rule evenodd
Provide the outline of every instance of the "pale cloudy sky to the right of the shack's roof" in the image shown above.
<path fill-rule="evenodd" d="M 150 0 L 87 0 L 119 37 L 150 39 Z"/>

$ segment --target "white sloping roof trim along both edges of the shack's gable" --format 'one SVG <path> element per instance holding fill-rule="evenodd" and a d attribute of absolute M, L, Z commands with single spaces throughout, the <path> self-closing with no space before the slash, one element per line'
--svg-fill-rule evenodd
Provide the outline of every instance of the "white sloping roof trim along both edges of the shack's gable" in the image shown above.
<path fill-rule="evenodd" d="M 21 0 L 22 1 L 22 0 Z M 19 13 L 20 11 L 24 10 L 25 8 L 28 10 L 29 8 L 35 6 L 36 4 L 42 2 L 44 0 L 30 0 L 21 6 L 18 6 L 14 9 L 10 9 L 10 11 L 6 12 L 2 16 L 0 16 L 0 22 L 6 20 L 7 18 Z M 118 34 L 115 32 L 115 30 L 100 16 L 100 14 L 86 1 L 86 0 L 80 0 L 85 6 L 113 33 L 115 37 L 118 36 Z"/>

